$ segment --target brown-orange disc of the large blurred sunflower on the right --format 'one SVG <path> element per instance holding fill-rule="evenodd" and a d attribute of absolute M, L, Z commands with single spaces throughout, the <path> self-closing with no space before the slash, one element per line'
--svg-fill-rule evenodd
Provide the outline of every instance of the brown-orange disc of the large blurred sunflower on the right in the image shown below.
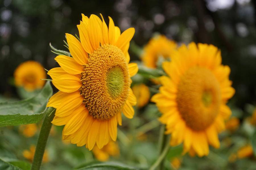
<path fill-rule="evenodd" d="M 178 84 L 177 106 L 186 125 L 195 131 L 210 126 L 220 110 L 220 85 L 206 68 L 193 67 Z"/>

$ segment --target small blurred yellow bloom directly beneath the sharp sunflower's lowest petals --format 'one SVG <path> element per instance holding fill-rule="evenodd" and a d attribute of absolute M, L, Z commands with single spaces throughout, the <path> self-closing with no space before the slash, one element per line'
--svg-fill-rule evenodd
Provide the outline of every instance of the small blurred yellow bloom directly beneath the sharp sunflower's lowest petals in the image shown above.
<path fill-rule="evenodd" d="M 110 156 L 118 156 L 119 155 L 119 147 L 117 143 L 110 141 L 107 145 L 103 146 L 103 148 L 99 149 L 98 146 L 94 146 L 92 149 L 92 153 L 99 161 L 107 161 Z"/>

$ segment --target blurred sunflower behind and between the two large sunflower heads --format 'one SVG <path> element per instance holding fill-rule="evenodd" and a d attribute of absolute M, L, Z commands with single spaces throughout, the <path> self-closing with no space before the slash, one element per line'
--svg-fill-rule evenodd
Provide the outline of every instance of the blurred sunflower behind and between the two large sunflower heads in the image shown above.
<path fill-rule="evenodd" d="M 176 42 L 169 40 L 164 35 L 153 37 L 143 49 L 142 62 L 147 67 L 156 68 L 158 58 L 170 58 L 176 47 Z"/>

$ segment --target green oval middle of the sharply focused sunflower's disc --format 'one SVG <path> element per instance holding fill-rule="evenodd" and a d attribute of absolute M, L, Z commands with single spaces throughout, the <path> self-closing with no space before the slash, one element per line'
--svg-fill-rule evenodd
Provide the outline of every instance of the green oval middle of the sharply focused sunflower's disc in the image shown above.
<path fill-rule="evenodd" d="M 120 67 L 112 67 L 107 73 L 108 93 L 112 98 L 118 97 L 122 93 L 124 84 L 123 70 Z"/>

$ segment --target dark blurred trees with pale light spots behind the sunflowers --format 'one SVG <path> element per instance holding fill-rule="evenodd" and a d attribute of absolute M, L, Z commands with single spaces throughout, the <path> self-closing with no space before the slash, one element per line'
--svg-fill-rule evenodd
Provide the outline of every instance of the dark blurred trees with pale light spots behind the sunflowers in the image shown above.
<path fill-rule="evenodd" d="M 220 48 L 236 89 L 231 104 L 243 109 L 256 101 L 255 7 L 254 0 L 1 0 L 0 94 L 16 95 L 10 80 L 26 60 L 55 67 L 49 42 L 65 50 L 65 33 L 78 34 L 81 13 L 102 13 L 107 24 L 111 16 L 121 31 L 135 27 L 133 42 L 140 47 L 158 32 L 178 43 L 204 42 Z M 139 60 L 132 51 L 130 55 Z"/>

